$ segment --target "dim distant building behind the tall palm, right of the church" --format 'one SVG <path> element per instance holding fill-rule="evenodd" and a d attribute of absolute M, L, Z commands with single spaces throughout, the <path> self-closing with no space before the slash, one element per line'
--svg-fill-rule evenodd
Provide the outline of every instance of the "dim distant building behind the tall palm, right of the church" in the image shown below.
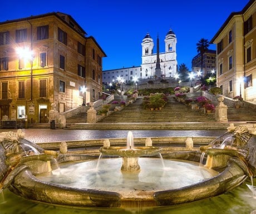
<path fill-rule="evenodd" d="M 201 74 L 203 77 L 206 76 L 206 74 L 211 73 L 212 71 L 216 71 L 216 51 L 208 49 L 203 54 L 203 71 L 201 71 L 201 54 L 198 53 L 193 59 L 192 59 L 192 71 L 198 72 L 201 71 Z"/>

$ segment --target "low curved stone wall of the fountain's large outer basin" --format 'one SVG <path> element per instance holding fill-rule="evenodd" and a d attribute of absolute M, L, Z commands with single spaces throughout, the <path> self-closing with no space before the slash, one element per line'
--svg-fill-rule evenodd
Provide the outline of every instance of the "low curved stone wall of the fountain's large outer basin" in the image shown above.
<path fill-rule="evenodd" d="M 165 158 L 173 158 L 173 154 Z M 88 155 L 63 155 L 59 161 L 88 160 Z M 175 152 L 175 159 L 198 162 L 198 152 Z M 26 163 L 23 163 L 26 164 Z M 31 162 L 30 162 L 31 164 Z M 37 160 L 38 165 L 38 160 Z M 43 171 L 48 164 L 42 161 Z M 119 192 L 74 188 L 38 180 L 33 170 L 24 168 L 14 178 L 9 190 L 28 200 L 51 204 L 84 207 L 137 207 L 166 206 L 192 202 L 220 195 L 239 186 L 247 178 L 243 163 L 238 158 L 230 158 L 227 167 L 219 174 L 203 182 L 171 190 L 142 192 L 143 197 L 124 198 Z M 49 170 L 49 169 L 48 169 Z M 37 168 L 38 173 L 38 168 Z M 86 172 L 85 172 L 86 173 Z"/>

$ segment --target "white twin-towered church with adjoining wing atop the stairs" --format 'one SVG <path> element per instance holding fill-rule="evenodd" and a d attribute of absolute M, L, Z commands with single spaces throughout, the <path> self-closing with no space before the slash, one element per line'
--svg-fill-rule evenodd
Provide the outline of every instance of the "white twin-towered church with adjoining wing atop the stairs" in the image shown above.
<path fill-rule="evenodd" d="M 102 72 L 103 82 L 109 84 L 113 80 L 116 81 L 118 77 L 124 79 L 126 83 L 134 78 L 174 77 L 177 73 L 178 64 L 176 60 L 176 43 L 176 35 L 170 29 L 165 36 L 165 52 L 159 53 L 159 38 L 157 37 L 157 53 L 153 53 L 154 42 L 150 34 L 147 33 L 141 43 L 141 66 L 105 70 Z M 157 58 L 159 63 L 157 63 Z M 158 73 L 156 72 L 156 67 Z"/>

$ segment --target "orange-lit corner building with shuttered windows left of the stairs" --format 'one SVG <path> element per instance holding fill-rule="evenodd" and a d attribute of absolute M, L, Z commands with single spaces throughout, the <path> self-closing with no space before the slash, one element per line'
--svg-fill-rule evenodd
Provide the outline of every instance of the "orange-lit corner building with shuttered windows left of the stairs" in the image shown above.
<path fill-rule="evenodd" d="M 45 123 L 52 103 L 63 112 L 99 99 L 106 54 L 86 34 L 59 12 L 1 22 L 0 119 Z"/>

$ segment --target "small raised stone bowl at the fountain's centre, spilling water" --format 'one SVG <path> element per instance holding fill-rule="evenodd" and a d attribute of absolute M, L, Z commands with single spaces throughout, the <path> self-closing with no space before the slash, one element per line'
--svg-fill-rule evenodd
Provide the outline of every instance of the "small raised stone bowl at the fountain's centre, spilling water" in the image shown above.
<path fill-rule="evenodd" d="M 110 146 L 101 147 L 100 152 L 102 155 L 109 156 L 120 156 L 120 157 L 141 157 L 141 156 L 155 156 L 162 151 L 162 148 L 153 146 L 144 147 L 132 147 L 131 149 L 127 147 Z"/>

